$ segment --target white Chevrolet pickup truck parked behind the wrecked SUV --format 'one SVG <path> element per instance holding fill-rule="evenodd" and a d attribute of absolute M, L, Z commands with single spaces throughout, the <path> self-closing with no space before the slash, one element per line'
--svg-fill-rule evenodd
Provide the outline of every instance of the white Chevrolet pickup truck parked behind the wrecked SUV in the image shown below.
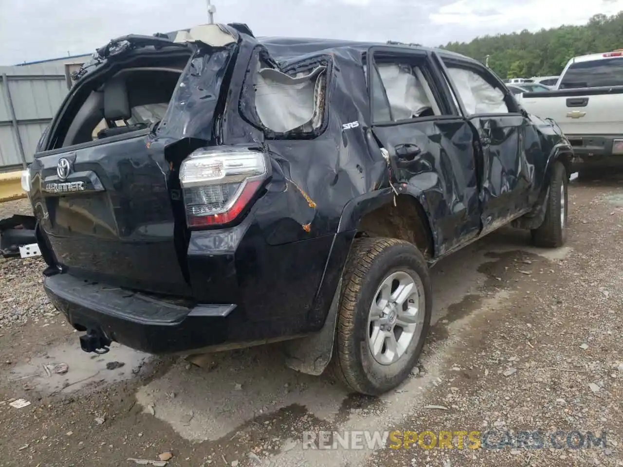
<path fill-rule="evenodd" d="M 577 156 L 575 169 L 623 166 L 623 50 L 574 57 L 553 90 L 518 101 L 558 123 Z"/>

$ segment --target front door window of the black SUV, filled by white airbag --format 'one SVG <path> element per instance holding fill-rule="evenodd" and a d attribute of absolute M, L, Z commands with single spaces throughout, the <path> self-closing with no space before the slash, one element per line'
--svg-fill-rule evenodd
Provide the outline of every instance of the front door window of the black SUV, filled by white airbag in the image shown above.
<path fill-rule="evenodd" d="M 446 66 L 469 115 L 510 112 L 502 89 L 487 82 L 477 72 L 452 65 Z"/>

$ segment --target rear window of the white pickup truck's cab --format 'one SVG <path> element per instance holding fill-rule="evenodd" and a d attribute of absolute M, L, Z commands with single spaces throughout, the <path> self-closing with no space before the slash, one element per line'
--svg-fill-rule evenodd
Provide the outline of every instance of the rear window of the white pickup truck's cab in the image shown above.
<path fill-rule="evenodd" d="M 565 70 L 558 88 L 579 89 L 614 86 L 623 86 L 623 57 L 575 62 Z"/>

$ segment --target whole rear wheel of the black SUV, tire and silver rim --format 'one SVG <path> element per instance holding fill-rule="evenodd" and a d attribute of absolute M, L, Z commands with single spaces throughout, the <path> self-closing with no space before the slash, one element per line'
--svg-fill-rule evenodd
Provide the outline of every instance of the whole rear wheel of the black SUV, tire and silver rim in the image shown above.
<path fill-rule="evenodd" d="M 411 243 L 359 238 L 346 264 L 333 372 L 361 394 L 380 395 L 415 366 L 430 325 L 428 267 Z"/>

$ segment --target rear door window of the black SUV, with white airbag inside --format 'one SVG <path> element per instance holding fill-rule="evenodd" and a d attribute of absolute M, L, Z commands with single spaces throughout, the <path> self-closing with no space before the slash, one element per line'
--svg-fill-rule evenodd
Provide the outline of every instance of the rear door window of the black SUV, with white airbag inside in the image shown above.
<path fill-rule="evenodd" d="M 375 60 L 371 76 L 374 121 L 400 121 L 442 115 L 420 65 Z"/>

